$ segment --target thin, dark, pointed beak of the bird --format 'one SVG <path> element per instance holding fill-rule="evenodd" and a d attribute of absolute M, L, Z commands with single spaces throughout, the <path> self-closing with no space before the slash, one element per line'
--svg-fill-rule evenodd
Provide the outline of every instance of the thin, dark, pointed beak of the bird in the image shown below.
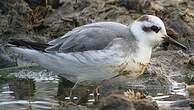
<path fill-rule="evenodd" d="M 183 44 L 181 44 L 181 43 L 179 43 L 178 41 L 174 40 L 173 38 L 171 38 L 171 37 L 168 36 L 168 35 L 166 35 L 166 36 L 164 37 L 164 40 L 165 40 L 166 42 L 168 42 L 168 43 L 170 43 L 170 44 L 173 44 L 173 45 L 175 45 L 175 46 L 177 46 L 177 47 L 180 47 L 180 48 L 182 48 L 182 49 L 184 49 L 184 50 L 188 50 L 188 48 L 187 48 L 186 46 L 184 46 Z"/>

